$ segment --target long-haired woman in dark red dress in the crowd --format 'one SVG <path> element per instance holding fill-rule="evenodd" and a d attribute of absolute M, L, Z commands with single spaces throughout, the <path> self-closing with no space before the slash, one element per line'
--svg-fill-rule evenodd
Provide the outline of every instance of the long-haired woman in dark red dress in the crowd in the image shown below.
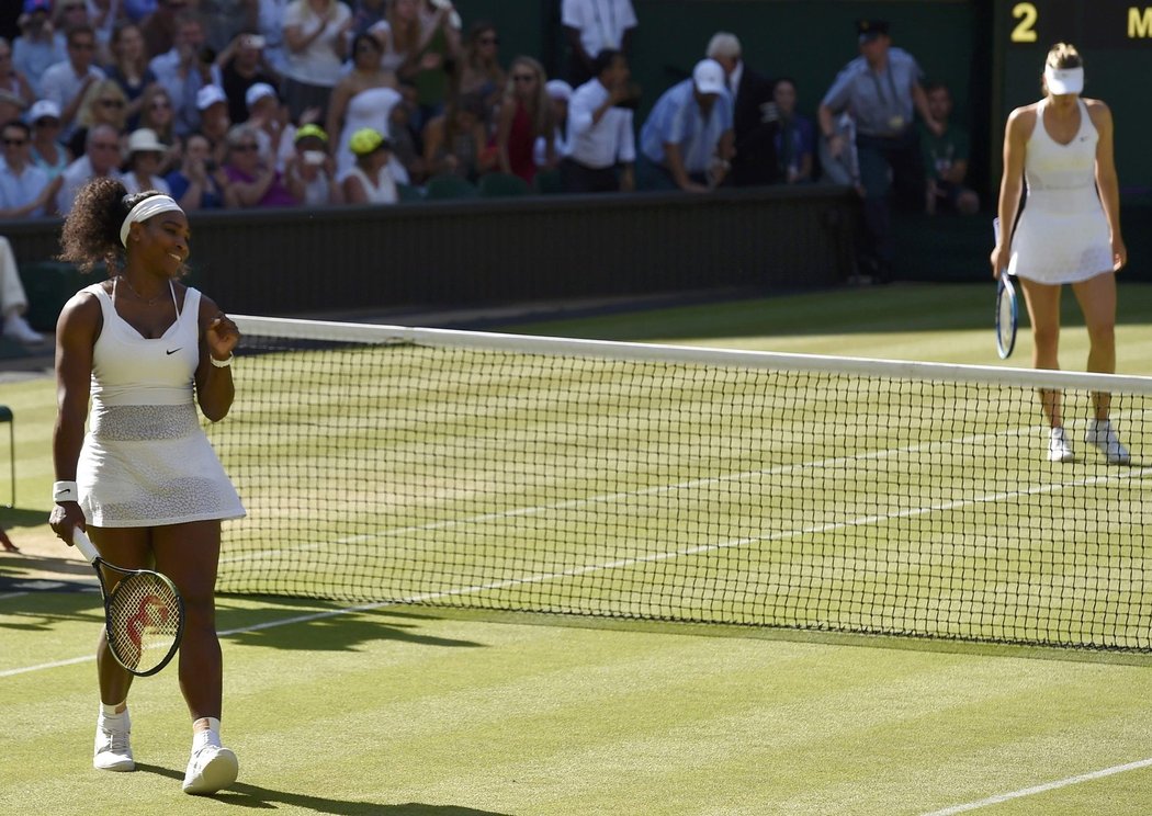
<path fill-rule="evenodd" d="M 497 121 L 497 159 L 501 173 L 531 183 L 536 176 L 536 140 L 545 142 L 545 162 L 554 157 L 555 123 L 545 90 L 544 67 L 531 56 L 517 56 L 508 69 L 508 86 Z"/>

